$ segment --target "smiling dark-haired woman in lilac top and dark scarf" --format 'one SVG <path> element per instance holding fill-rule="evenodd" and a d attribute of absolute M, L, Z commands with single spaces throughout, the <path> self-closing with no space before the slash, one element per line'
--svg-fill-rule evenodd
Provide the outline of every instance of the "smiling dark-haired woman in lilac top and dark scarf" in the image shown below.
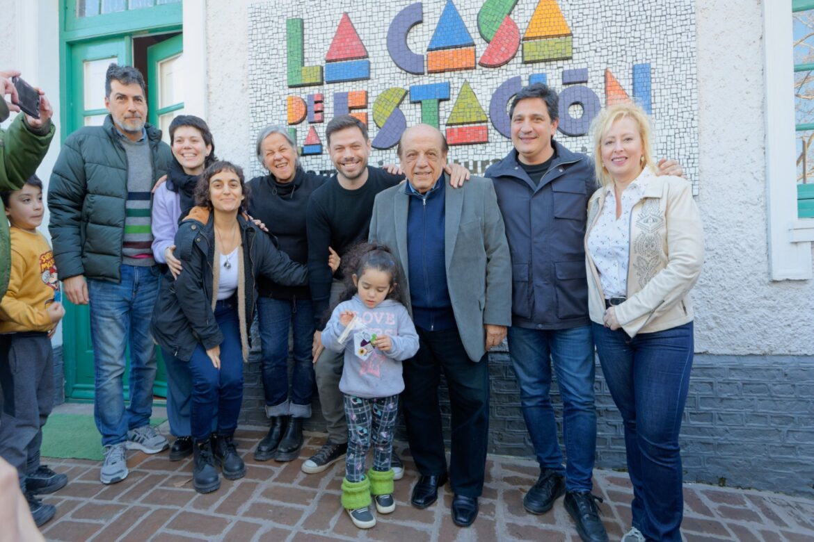
<path fill-rule="evenodd" d="M 166 264 L 172 275 L 164 275 L 165 280 L 173 280 L 181 272 L 181 262 L 173 256 L 178 222 L 195 206 L 195 185 L 204 168 L 217 161 L 215 141 L 204 119 L 178 115 L 169 124 L 169 139 L 175 160 L 166 182 L 155 189 L 151 212 L 153 257 Z M 167 349 L 161 349 L 161 357 L 167 368 L 169 431 L 176 437 L 169 449 L 169 460 L 178 461 L 192 453 L 190 371 Z"/>

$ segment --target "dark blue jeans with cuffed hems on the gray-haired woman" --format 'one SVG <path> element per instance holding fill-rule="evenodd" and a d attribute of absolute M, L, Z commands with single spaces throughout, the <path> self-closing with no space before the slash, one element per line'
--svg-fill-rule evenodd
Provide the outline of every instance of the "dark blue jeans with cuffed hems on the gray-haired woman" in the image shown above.
<path fill-rule="evenodd" d="M 313 305 L 310 299 L 257 300 L 260 319 L 260 346 L 263 351 L 260 366 L 263 371 L 265 411 L 270 417 L 291 415 L 311 417 L 313 395 Z M 294 374 L 291 377 L 291 397 L 288 394 L 288 329 L 293 327 Z"/>

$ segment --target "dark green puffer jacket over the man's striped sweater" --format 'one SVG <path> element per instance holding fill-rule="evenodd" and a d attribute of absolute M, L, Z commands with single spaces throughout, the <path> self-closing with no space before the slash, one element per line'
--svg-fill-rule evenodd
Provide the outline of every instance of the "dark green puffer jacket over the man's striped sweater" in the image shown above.
<path fill-rule="evenodd" d="M 161 131 L 145 124 L 153 184 L 173 161 Z M 48 229 L 59 278 L 121 280 L 125 236 L 127 154 L 110 115 L 103 126 L 86 126 L 63 144 L 48 186 Z"/>

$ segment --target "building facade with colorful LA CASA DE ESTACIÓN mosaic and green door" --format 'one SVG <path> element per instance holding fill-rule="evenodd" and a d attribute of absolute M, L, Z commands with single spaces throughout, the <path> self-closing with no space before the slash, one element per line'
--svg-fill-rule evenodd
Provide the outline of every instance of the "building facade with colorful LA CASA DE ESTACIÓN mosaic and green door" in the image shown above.
<path fill-rule="evenodd" d="M 103 118 L 107 63 L 133 63 L 147 75 L 152 123 L 202 116 L 217 154 L 247 176 L 261 172 L 254 138 L 269 123 L 287 126 L 306 169 L 328 171 L 333 115 L 365 120 L 374 165 L 396 162 L 400 131 L 427 122 L 446 133 L 451 160 L 482 173 L 510 150 L 506 106 L 529 82 L 558 91 L 556 137 L 576 151 L 590 150 L 599 107 L 637 100 L 654 119 L 656 154 L 678 159 L 693 182 L 706 234 L 685 477 L 814 494 L 804 143 L 814 123 L 801 80 L 814 61 L 801 52 L 800 26 L 814 2 L 605 3 L 3 0 L 0 69 L 18 68 L 46 90 L 63 141 Z M 58 152 L 53 145 L 42 164 L 44 180 Z M 86 320 L 73 308 L 55 338 L 68 399 L 92 397 Z M 530 454 L 507 353 L 491 363 L 490 449 Z M 257 371 L 247 367 L 245 423 L 263 419 Z M 623 468 L 621 421 L 601 371 L 597 407 L 597 464 Z"/>

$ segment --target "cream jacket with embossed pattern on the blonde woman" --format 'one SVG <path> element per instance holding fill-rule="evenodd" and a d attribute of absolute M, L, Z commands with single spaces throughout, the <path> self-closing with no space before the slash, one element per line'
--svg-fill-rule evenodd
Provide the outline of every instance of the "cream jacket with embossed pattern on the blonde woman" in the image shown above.
<path fill-rule="evenodd" d="M 616 306 L 616 318 L 628 336 L 660 332 L 693 319 L 689 290 L 704 258 L 701 216 L 691 185 L 681 177 L 656 176 L 645 168 L 644 197 L 631 211 L 628 300 Z M 585 265 L 591 320 L 602 323 L 605 295 L 588 249 L 588 236 L 605 203 L 606 189 L 588 202 Z"/>

